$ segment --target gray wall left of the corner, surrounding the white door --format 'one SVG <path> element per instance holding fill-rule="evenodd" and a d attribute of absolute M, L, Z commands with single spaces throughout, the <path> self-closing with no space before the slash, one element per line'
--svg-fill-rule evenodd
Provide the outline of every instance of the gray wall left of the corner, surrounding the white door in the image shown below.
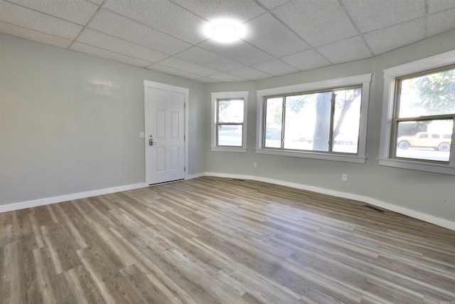
<path fill-rule="evenodd" d="M 144 79 L 190 89 L 203 172 L 204 84 L 0 34 L 0 205 L 145 182 Z"/>

